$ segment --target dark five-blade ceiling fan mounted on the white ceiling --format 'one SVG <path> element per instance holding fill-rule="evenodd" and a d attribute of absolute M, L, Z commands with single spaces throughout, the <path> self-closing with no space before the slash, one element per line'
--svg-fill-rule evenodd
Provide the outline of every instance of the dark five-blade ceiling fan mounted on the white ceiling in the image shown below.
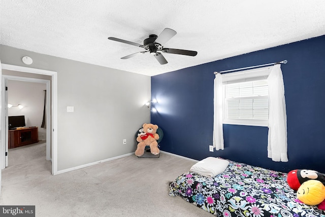
<path fill-rule="evenodd" d="M 129 45 L 134 45 L 134 46 L 145 49 L 144 51 L 140 51 L 140 52 L 137 52 L 137 53 L 134 53 L 134 54 L 130 54 L 130 55 L 121 57 L 121 59 L 128 59 L 128 58 L 134 57 L 134 56 L 136 56 L 136 55 L 138 55 L 140 53 L 149 52 L 151 55 L 153 55 L 156 58 L 156 60 L 158 60 L 158 62 L 160 64 L 166 64 L 168 62 L 167 62 L 167 60 L 165 59 L 165 57 L 163 56 L 162 53 L 196 56 L 198 54 L 197 51 L 180 50 L 180 49 L 173 49 L 173 48 L 164 48 L 163 44 L 165 44 L 171 38 L 173 38 L 176 33 L 177 32 L 175 30 L 173 30 L 173 29 L 165 28 L 159 34 L 159 36 L 157 36 L 155 34 L 150 34 L 149 38 L 145 39 L 143 41 L 143 45 L 138 44 L 138 43 L 134 43 L 134 42 L 125 41 L 125 40 L 122 40 L 122 39 L 117 39 L 117 38 L 114 38 L 114 37 L 109 37 L 108 39 L 116 41 L 116 42 L 129 44 Z"/>

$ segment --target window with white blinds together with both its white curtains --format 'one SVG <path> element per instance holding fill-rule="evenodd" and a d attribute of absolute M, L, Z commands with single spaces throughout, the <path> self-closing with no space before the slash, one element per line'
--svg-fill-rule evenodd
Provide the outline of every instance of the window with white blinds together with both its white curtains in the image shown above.
<path fill-rule="evenodd" d="M 224 148 L 222 124 L 268 126 L 268 158 L 287 162 L 281 65 L 217 73 L 213 85 L 213 147 L 216 150 Z"/>

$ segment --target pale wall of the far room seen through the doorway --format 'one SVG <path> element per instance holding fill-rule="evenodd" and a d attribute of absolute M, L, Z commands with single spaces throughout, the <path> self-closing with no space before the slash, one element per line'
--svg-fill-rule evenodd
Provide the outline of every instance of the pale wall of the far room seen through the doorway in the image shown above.
<path fill-rule="evenodd" d="M 7 87 L 8 102 L 24 106 L 22 109 L 9 108 L 8 116 L 24 115 L 26 126 L 39 127 L 39 139 L 46 139 L 46 129 L 41 128 L 46 84 L 8 80 Z"/>

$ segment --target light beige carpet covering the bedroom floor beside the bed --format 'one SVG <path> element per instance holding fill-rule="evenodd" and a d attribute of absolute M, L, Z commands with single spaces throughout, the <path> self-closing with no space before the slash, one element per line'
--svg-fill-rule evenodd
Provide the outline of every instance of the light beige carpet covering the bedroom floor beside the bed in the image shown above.
<path fill-rule="evenodd" d="M 2 205 L 35 205 L 36 216 L 212 216 L 181 197 L 169 182 L 194 164 L 161 153 L 134 155 L 51 175 L 45 143 L 9 150 L 2 170 Z"/>

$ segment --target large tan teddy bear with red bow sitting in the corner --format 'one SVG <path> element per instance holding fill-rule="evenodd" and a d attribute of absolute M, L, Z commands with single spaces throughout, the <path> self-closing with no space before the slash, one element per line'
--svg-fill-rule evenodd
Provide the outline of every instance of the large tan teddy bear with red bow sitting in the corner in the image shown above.
<path fill-rule="evenodd" d="M 143 127 L 143 131 L 142 130 L 139 131 L 140 133 L 138 134 L 137 137 L 137 141 L 139 143 L 135 155 L 142 156 L 144 154 L 144 150 L 146 146 L 150 147 L 151 154 L 154 155 L 159 154 L 158 142 L 157 142 L 157 140 L 159 139 L 159 135 L 156 133 L 158 126 L 154 124 L 144 123 L 142 127 Z"/>

